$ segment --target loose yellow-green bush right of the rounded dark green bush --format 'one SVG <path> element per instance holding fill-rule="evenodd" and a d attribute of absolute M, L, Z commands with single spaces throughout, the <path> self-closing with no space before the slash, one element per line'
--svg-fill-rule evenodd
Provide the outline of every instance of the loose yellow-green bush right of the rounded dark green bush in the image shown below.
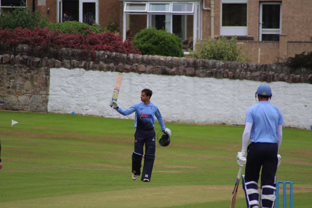
<path fill-rule="evenodd" d="M 246 54 L 242 51 L 243 48 L 243 45 L 237 45 L 236 36 L 230 40 L 226 37 L 207 38 L 198 40 L 195 50 L 190 50 L 190 55 L 197 59 L 246 62 Z"/>

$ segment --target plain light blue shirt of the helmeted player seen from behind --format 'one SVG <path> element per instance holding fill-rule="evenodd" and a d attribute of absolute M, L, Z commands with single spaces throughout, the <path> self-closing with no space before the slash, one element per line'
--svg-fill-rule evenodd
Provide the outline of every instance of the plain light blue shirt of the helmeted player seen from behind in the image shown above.
<path fill-rule="evenodd" d="M 246 122 L 252 123 L 250 141 L 277 143 L 277 126 L 284 124 L 280 109 L 270 102 L 260 101 L 248 108 Z"/>

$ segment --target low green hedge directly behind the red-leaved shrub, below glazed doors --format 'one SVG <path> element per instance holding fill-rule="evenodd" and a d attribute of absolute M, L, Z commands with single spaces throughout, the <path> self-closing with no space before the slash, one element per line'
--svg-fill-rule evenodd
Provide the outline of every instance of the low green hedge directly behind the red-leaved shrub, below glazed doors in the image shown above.
<path fill-rule="evenodd" d="M 77 22 L 77 21 L 66 21 L 60 23 L 52 23 L 46 22 L 46 26 L 49 27 L 50 30 L 57 30 L 61 33 L 75 33 L 80 32 L 83 33 L 86 30 L 90 30 L 95 34 L 104 33 L 106 29 L 103 29 L 98 24 L 89 25 L 87 23 Z"/>

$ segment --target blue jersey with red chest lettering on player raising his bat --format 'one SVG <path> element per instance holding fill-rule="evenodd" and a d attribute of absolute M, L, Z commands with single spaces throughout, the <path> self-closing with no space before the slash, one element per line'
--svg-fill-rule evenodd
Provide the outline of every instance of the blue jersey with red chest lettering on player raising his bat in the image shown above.
<path fill-rule="evenodd" d="M 124 110 L 120 107 L 117 111 L 124 116 L 128 116 L 135 112 L 134 127 L 139 130 L 151 130 L 154 129 L 155 117 L 157 118 L 162 131 L 165 131 L 165 123 L 161 116 L 158 107 L 150 102 L 149 105 L 145 105 L 144 102 L 139 102 L 131 106 L 129 109 Z"/>

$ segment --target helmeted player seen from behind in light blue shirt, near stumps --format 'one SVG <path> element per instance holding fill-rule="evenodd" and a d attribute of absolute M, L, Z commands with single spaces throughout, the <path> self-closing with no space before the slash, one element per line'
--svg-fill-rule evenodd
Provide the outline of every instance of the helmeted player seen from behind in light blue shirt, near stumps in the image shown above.
<path fill-rule="evenodd" d="M 273 208 L 275 204 L 276 170 L 280 165 L 278 154 L 282 142 L 284 119 L 279 108 L 270 103 L 271 87 L 261 84 L 256 92 L 259 102 L 248 108 L 246 125 L 242 135 L 241 152 L 237 163 L 244 166 L 242 184 L 247 208 Z M 250 144 L 247 147 L 248 141 Z M 247 150 L 247 158 L 245 158 Z M 261 195 L 259 203 L 258 180 L 261 171 Z M 259 205 L 260 204 L 260 205 Z"/>

